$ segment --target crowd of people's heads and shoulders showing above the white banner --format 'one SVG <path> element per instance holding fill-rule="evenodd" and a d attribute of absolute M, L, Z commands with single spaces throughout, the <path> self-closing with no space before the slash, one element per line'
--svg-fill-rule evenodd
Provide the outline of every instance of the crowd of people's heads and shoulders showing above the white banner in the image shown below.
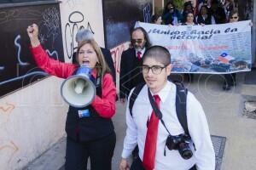
<path fill-rule="evenodd" d="M 152 16 L 151 22 L 154 24 L 179 26 L 187 25 L 189 19 L 193 20 L 192 25 L 224 24 L 229 22 L 230 12 L 235 9 L 233 0 L 201 0 L 198 1 L 198 5 L 195 8 L 191 1 L 189 1 L 183 4 L 183 10 L 178 10 L 175 4 L 170 1 L 166 3 L 162 14 L 154 14 Z"/>

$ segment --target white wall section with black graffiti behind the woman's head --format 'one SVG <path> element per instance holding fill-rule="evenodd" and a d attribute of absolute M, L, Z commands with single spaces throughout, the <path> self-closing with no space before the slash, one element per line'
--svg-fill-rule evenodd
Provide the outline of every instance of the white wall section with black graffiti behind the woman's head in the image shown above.
<path fill-rule="evenodd" d="M 101 47 L 105 47 L 102 0 L 62 0 L 60 8 L 61 30 L 66 62 L 70 61 L 73 48 L 77 47 L 75 35 L 79 31 L 80 26 L 91 29 L 95 33 L 94 38 L 96 42 Z"/>

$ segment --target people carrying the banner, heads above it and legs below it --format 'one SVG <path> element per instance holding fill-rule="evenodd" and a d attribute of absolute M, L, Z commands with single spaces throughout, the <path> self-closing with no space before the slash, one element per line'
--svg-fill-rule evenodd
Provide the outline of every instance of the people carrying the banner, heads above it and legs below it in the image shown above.
<path fill-rule="evenodd" d="M 191 1 L 189 1 L 183 4 L 183 10 L 181 11 L 170 1 L 166 3 L 161 15 L 152 15 L 151 23 L 169 26 L 205 26 L 236 22 L 239 19 L 233 0 L 201 0 L 198 1 L 197 8 L 194 8 Z M 185 74 L 185 77 L 189 82 L 193 82 L 193 74 Z M 236 73 L 225 74 L 223 89 L 230 90 L 234 86 L 236 86 Z"/>

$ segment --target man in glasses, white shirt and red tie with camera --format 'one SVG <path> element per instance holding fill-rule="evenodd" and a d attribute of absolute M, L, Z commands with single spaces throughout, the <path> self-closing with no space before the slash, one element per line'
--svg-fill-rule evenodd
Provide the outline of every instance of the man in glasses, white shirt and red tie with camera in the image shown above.
<path fill-rule="evenodd" d="M 119 164 L 120 170 L 215 169 L 215 154 L 207 118 L 200 102 L 189 92 L 187 94 L 187 121 L 189 135 L 193 141 L 193 144 L 189 144 L 189 148 L 192 150 L 193 156 L 185 160 L 178 150 L 169 150 L 166 147 L 166 139 L 169 135 L 167 130 L 173 136 L 184 133 L 183 127 L 177 119 L 176 85 L 167 80 L 172 70 L 170 63 L 171 54 L 161 46 L 152 46 L 143 55 L 142 71 L 146 85 L 137 95 L 132 107 L 132 116 L 129 110 L 132 90 L 128 98 L 126 108 L 127 129 Z M 157 122 L 157 117 L 155 118 L 148 99 L 149 92 L 154 95 L 155 103 L 162 113 L 162 120 L 165 122 L 166 128 L 163 123 Z M 139 156 L 137 160 L 132 162 L 130 168 L 128 158 L 137 144 Z"/>

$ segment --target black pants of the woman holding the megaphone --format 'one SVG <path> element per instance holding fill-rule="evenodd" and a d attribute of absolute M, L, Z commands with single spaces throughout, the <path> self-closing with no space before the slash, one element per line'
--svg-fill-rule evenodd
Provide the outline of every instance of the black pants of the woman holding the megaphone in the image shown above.
<path fill-rule="evenodd" d="M 115 142 L 115 133 L 90 142 L 77 142 L 67 138 L 65 169 L 85 170 L 90 157 L 91 170 L 111 170 Z"/>

